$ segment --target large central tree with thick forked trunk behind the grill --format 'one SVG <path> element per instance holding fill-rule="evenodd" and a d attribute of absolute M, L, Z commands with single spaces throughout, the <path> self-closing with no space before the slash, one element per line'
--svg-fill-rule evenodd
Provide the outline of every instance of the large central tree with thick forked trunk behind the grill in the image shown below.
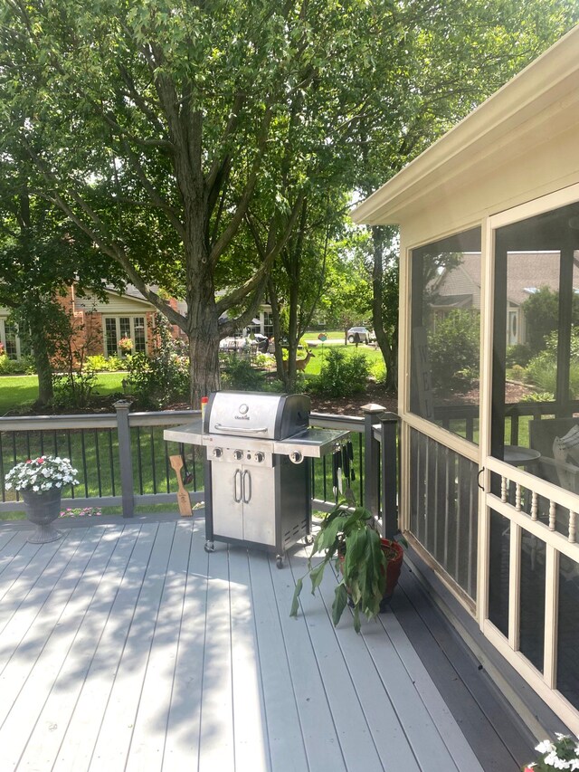
<path fill-rule="evenodd" d="M 43 194 L 185 331 L 194 403 L 219 386 L 218 340 L 254 316 L 302 212 L 367 13 L 362 0 L 6 0 L 0 11 L 3 133 L 42 172 Z M 270 210 L 265 249 L 216 297 L 256 196 Z M 153 281 L 182 288 L 185 315 Z"/>

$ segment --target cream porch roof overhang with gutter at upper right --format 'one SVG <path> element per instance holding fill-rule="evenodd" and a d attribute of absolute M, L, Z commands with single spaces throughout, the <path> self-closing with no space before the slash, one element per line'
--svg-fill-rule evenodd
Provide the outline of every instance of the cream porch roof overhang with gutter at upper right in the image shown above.
<path fill-rule="evenodd" d="M 354 222 L 403 224 L 413 213 L 436 206 L 441 196 L 458 199 L 513 158 L 526 157 L 527 165 L 532 158 L 536 164 L 537 148 L 545 158 L 557 135 L 579 125 L 578 50 L 579 25 L 358 205 Z M 548 158 L 539 160 L 540 169 L 548 167 Z M 579 167 L 579 150 L 571 167 Z M 552 182 L 553 190 L 574 181 L 561 178 L 563 173 L 558 184 Z M 527 194 L 523 200 L 530 189 Z M 492 203 L 487 200 L 485 206 Z M 508 200 L 496 211 L 507 205 Z"/>

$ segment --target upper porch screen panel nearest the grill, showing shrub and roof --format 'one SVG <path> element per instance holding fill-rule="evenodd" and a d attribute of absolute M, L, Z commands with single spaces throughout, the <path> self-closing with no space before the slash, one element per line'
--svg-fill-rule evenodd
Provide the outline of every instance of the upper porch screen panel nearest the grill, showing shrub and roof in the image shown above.
<path fill-rule="evenodd" d="M 411 410 L 478 442 L 480 230 L 413 250 Z"/>

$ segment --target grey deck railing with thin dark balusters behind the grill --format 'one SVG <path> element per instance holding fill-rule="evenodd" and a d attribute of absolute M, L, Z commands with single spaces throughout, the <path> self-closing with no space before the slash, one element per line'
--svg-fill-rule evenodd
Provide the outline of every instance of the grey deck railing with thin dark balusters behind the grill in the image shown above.
<path fill-rule="evenodd" d="M 182 454 L 187 489 L 194 501 L 204 498 L 204 449 L 166 443 L 167 427 L 185 424 L 195 410 L 131 413 L 120 400 L 114 414 L 23 416 L 0 418 L 0 513 L 24 509 L 14 491 L 5 489 L 5 472 L 17 462 L 51 453 L 71 459 L 79 485 L 62 493 L 63 508 L 121 507 L 133 516 L 135 507 L 175 503 L 176 475 L 169 461 Z M 372 405 L 363 417 L 312 413 L 312 425 L 351 433 L 356 501 L 382 517 L 384 534 L 397 528 L 398 418 Z M 340 496 L 332 479 L 331 459 L 311 465 L 314 510 L 330 510 Z"/>

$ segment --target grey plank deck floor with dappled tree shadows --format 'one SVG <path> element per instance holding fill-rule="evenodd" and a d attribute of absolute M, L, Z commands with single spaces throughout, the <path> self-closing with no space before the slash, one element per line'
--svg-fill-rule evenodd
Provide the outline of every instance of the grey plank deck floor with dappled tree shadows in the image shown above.
<path fill-rule="evenodd" d="M 83 526 L 43 546 L 0 528 L 2 772 L 517 769 L 470 688 L 451 710 L 411 643 L 404 626 L 430 633 L 407 573 L 395 613 L 356 635 L 328 617 L 333 577 L 289 618 L 302 548 L 279 570 L 207 555 L 203 519 Z"/>

